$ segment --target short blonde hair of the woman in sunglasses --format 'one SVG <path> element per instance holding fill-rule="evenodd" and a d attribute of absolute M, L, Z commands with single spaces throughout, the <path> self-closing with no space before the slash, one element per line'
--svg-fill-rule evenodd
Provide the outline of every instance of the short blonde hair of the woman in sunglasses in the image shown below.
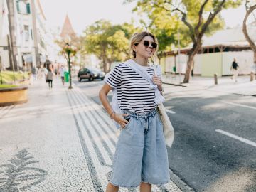
<path fill-rule="evenodd" d="M 131 43 L 130 43 L 131 53 L 134 58 L 136 58 L 136 52 L 132 49 L 132 47 L 137 46 L 142 41 L 142 39 L 146 36 L 151 36 L 151 38 L 153 38 L 154 42 L 158 44 L 156 36 L 154 36 L 154 34 L 150 33 L 149 31 L 142 31 L 141 33 L 134 33 L 132 35 Z M 159 46 L 157 46 L 157 48 L 156 48 L 154 57 L 156 57 L 155 54 L 157 53 L 158 48 L 159 48 Z"/>

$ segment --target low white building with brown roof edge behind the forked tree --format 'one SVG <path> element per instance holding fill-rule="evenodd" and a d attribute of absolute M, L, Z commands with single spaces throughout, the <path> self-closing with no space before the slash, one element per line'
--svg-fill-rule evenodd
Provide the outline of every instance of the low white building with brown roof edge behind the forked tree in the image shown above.
<path fill-rule="evenodd" d="M 248 25 L 247 31 L 256 42 L 255 24 Z M 190 48 L 182 48 L 180 58 L 177 50 L 164 53 L 164 58 L 160 60 L 161 65 L 164 65 L 164 72 L 174 73 L 176 68 L 176 73 L 185 73 L 189 50 Z M 194 58 L 193 74 L 206 77 L 212 77 L 215 73 L 219 76 L 231 75 L 230 65 L 234 58 L 240 66 L 240 75 L 247 75 L 255 70 L 254 54 L 242 33 L 242 27 L 220 30 L 213 36 L 204 37 L 202 48 Z"/>

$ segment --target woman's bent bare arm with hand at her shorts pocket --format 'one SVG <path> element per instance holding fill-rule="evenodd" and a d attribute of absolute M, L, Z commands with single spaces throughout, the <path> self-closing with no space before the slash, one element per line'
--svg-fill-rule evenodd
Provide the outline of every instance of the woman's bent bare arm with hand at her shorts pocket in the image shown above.
<path fill-rule="evenodd" d="M 107 94 L 112 90 L 112 87 L 110 85 L 103 85 L 99 92 L 100 101 L 102 102 L 103 107 L 107 111 L 108 114 L 111 115 L 111 119 L 114 119 L 115 122 L 121 125 L 122 128 L 124 128 L 127 125 L 127 120 L 124 119 L 124 116 L 127 116 L 127 114 L 116 114 L 112 107 L 110 106 L 110 102 L 107 100 Z"/>

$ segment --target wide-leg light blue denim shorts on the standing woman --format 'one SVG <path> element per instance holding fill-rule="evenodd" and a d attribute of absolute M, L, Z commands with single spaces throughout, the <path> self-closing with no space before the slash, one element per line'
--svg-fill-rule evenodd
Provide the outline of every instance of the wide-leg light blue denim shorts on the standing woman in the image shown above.
<path fill-rule="evenodd" d="M 137 187 L 141 182 L 168 183 L 168 156 L 159 112 L 124 113 L 130 119 L 119 135 L 110 183 L 126 188 Z"/>

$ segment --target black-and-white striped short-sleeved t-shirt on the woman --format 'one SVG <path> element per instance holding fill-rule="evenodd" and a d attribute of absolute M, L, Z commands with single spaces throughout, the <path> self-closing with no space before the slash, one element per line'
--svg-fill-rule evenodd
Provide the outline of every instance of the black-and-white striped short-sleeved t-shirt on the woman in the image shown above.
<path fill-rule="evenodd" d="M 154 74 L 154 68 L 146 71 Z M 107 84 L 117 89 L 117 100 L 121 110 L 130 112 L 150 112 L 156 109 L 155 90 L 149 88 L 149 82 L 129 68 L 127 64 L 117 65 L 107 78 Z"/>

